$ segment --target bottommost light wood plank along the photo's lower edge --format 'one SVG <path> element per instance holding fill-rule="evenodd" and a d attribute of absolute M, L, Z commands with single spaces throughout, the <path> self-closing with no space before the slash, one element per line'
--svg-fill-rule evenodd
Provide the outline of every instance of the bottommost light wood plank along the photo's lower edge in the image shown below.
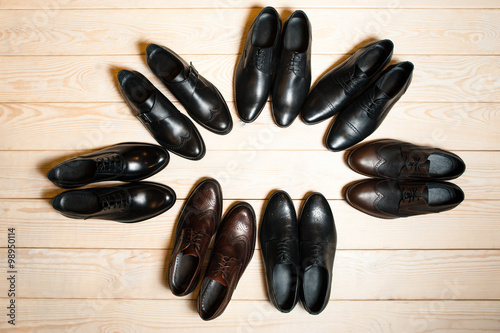
<path fill-rule="evenodd" d="M 496 332 L 499 302 L 336 301 L 311 317 L 300 305 L 291 314 L 267 301 L 236 301 L 204 322 L 188 300 L 20 299 L 21 332 Z M 1 321 L 0 328 L 12 329 Z M 16 330 L 17 331 L 17 330 Z"/>

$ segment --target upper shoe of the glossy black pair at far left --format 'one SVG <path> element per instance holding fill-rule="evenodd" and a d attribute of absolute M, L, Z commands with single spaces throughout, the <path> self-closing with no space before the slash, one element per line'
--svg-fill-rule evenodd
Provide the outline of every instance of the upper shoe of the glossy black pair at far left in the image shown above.
<path fill-rule="evenodd" d="M 160 146 L 127 142 L 70 158 L 52 168 L 47 176 L 63 188 L 108 180 L 132 182 L 160 172 L 168 161 L 168 152 Z"/>

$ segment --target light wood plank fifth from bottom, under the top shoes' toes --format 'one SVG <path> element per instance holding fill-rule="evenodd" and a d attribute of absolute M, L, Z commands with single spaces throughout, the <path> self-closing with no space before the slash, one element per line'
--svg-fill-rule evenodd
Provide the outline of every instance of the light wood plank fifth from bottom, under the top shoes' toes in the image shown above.
<path fill-rule="evenodd" d="M 185 112 L 179 103 L 176 106 Z M 197 126 L 205 141 L 217 150 L 253 150 L 252 145 L 243 143 L 255 138 L 266 142 L 262 147 L 266 150 L 325 150 L 323 137 L 331 121 L 308 126 L 297 119 L 290 128 L 280 129 L 273 123 L 268 104 L 254 123 L 245 125 L 239 121 L 234 103 L 229 106 L 234 129 L 228 136 Z M 499 103 L 403 101 L 369 139 L 390 137 L 448 150 L 496 150 L 499 112 Z M 155 142 L 125 103 L 0 104 L 0 131 L 2 150 L 74 150 L 127 141 Z M 467 140 L 463 140 L 464 133 Z"/>

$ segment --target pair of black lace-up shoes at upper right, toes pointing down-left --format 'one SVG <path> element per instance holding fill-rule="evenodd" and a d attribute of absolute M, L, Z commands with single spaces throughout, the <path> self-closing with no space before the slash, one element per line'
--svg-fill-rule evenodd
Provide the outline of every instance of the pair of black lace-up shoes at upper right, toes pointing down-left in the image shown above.
<path fill-rule="evenodd" d="M 371 42 L 323 75 L 312 88 L 300 116 L 312 125 L 337 115 L 325 138 L 329 150 L 342 151 L 366 139 L 408 89 L 413 76 L 411 62 L 385 68 L 393 50 L 388 39 Z"/>

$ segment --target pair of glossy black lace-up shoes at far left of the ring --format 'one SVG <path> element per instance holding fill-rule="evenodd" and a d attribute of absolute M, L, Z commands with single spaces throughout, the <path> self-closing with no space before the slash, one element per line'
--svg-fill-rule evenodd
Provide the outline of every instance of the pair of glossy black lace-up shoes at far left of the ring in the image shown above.
<path fill-rule="evenodd" d="M 121 143 L 70 158 L 47 175 L 59 187 L 76 188 L 103 181 L 130 183 L 66 191 L 52 200 L 52 207 L 74 219 L 124 223 L 150 219 L 174 205 L 175 192 L 166 185 L 140 180 L 160 172 L 168 162 L 165 149 L 148 143 Z"/>

